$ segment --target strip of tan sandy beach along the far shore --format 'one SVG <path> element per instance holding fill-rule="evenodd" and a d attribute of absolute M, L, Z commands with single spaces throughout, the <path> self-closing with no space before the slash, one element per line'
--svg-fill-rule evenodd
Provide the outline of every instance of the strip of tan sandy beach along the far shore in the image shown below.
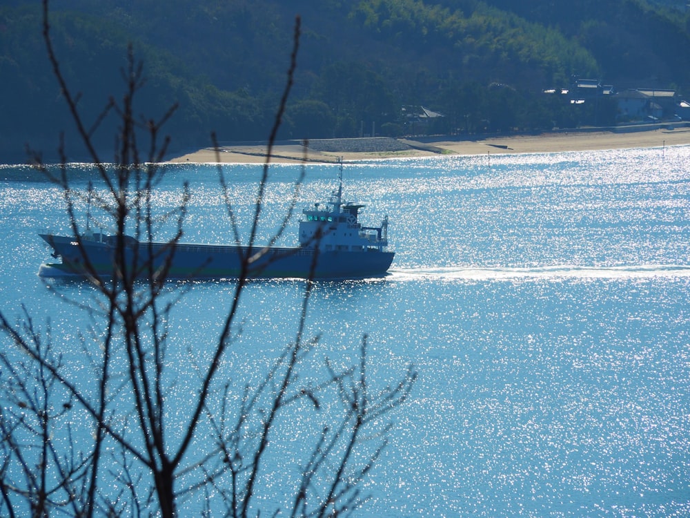
<path fill-rule="evenodd" d="M 690 144 L 690 128 L 656 128 L 646 131 L 573 131 L 542 133 L 541 135 L 518 135 L 509 137 L 488 137 L 482 140 L 435 140 L 424 143 L 412 138 L 401 139 L 414 146 L 405 151 L 386 152 L 327 152 L 304 149 L 297 144 L 274 146 L 270 162 L 336 162 L 342 160 L 372 160 L 397 157 L 424 157 L 433 155 L 483 155 L 503 153 L 555 153 L 559 151 L 591 151 L 602 149 L 625 149 L 640 147 L 662 147 Z M 219 150 L 204 148 L 194 153 L 174 157 L 172 163 L 226 163 L 256 164 L 266 161 L 266 146 L 223 146 Z"/>

